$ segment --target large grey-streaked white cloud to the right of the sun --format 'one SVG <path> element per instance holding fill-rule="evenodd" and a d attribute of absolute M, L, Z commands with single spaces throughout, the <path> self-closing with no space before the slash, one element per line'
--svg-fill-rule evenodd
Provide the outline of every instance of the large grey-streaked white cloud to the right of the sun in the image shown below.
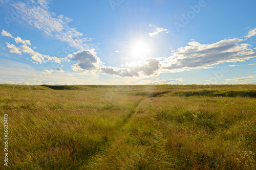
<path fill-rule="evenodd" d="M 189 42 L 178 48 L 172 56 L 161 61 L 162 68 L 177 72 L 195 68 L 209 68 L 224 62 L 240 62 L 256 57 L 249 44 L 238 44 L 242 39 L 225 39 L 213 44 Z"/>

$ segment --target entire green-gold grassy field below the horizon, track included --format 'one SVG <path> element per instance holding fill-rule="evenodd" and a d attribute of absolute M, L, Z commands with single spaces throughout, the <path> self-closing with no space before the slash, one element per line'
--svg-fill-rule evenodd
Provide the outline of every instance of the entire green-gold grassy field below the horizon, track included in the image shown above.
<path fill-rule="evenodd" d="M 0 169 L 256 169 L 256 85 L 0 85 L 0 113 Z"/>

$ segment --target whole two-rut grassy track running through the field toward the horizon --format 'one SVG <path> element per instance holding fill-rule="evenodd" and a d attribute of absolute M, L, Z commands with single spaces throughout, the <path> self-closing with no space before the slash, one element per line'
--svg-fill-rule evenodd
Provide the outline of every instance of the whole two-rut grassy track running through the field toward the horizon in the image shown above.
<path fill-rule="evenodd" d="M 82 169 L 173 169 L 153 104 L 143 99 L 114 139 Z"/>

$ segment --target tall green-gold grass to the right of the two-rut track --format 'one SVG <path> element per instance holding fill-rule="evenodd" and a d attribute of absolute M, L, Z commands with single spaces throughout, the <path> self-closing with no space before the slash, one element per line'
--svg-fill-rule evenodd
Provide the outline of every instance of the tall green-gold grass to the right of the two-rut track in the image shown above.
<path fill-rule="evenodd" d="M 175 169 L 255 169 L 256 100 L 156 98 Z"/>

